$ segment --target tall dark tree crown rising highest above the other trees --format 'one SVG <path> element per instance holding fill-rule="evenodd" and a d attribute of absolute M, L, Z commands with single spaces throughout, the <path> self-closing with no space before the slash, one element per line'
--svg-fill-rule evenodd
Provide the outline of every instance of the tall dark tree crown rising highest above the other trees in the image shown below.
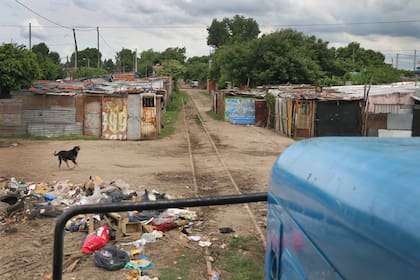
<path fill-rule="evenodd" d="M 218 48 L 225 44 L 254 40 L 260 28 L 254 19 L 235 15 L 232 19 L 224 18 L 221 21 L 213 19 L 207 32 L 207 45 Z"/>

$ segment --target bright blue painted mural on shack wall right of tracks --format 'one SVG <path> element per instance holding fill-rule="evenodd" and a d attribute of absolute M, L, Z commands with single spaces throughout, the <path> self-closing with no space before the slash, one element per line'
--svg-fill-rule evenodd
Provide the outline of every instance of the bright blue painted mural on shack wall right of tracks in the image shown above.
<path fill-rule="evenodd" d="M 226 98 L 225 120 L 232 124 L 255 124 L 255 99 Z"/>

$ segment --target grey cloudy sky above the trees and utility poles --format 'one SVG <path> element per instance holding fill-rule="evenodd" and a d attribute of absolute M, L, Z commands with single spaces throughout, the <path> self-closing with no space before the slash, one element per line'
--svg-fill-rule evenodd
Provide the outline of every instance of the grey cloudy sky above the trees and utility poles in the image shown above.
<path fill-rule="evenodd" d="M 412 68 L 420 63 L 420 5 L 415 0 L 0 0 L 0 39 L 29 45 L 45 42 L 65 61 L 74 52 L 97 47 L 114 59 L 122 47 L 163 51 L 185 47 L 187 56 L 208 55 L 212 19 L 239 14 L 255 19 L 262 33 L 294 28 L 329 46 L 356 41 L 380 51 L 387 63 Z M 261 33 L 261 34 L 262 34 Z"/>

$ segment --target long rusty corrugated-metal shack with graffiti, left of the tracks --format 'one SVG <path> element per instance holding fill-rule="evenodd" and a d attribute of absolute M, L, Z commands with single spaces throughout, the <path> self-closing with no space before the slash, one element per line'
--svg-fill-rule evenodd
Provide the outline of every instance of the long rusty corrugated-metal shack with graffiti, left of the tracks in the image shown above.
<path fill-rule="evenodd" d="M 145 81 L 38 81 L 0 102 L 0 133 L 85 135 L 140 140 L 158 136 L 166 90 Z"/>

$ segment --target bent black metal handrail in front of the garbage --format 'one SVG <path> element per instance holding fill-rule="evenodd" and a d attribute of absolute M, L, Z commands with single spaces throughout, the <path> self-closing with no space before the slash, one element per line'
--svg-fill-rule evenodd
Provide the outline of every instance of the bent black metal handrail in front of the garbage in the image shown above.
<path fill-rule="evenodd" d="M 267 201 L 267 193 L 251 193 L 177 200 L 158 200 L 112 204 L 80 205 L 66 209 L 58 218 L 54 229 L 53 279 L 61 280 L 63 272 L 64 227 L 68 220 L 79 214 L 122 211 L 158 210 L 179 207 L 199 207 Z"/>

